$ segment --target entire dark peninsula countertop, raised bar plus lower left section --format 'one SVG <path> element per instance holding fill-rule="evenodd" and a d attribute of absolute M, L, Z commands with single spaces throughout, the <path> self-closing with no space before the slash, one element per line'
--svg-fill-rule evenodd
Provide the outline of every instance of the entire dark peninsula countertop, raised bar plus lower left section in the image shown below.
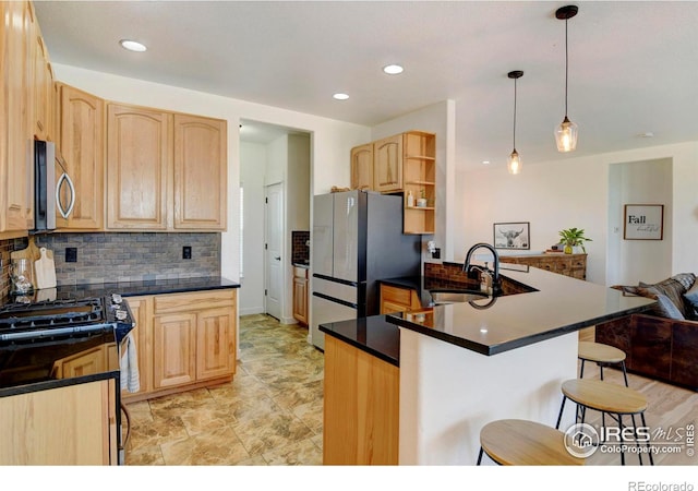
<path fill-rule="evenodd" d="M 655 303 L 534 267 L 507 267 L 501 273 L 513 287 L 510 291 L 520 286 L 531 291 L 434 307 L 430 289 L 457 285 L 423 276 L 386 278 L 381 283 L 416 290 L 423 309 L 323 324 L 320 330 L 399 366 L 399 332 L 385 324 L 417 331 L 483 355 L 496 355 L 641 312 Z"/>

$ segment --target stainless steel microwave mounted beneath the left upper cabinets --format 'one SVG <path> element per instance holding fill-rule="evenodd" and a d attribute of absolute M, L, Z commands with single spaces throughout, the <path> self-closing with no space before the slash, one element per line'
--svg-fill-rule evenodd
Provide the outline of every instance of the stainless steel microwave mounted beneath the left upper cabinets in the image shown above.
<path fill-rule="evenodd" d="M 58 179 L 57 179 L 58 176 Z M 75 206 L 75 187 L 56 144 L 34 142 L 34 231 L 56 228 L 56 216 L 68 218 Z"/>

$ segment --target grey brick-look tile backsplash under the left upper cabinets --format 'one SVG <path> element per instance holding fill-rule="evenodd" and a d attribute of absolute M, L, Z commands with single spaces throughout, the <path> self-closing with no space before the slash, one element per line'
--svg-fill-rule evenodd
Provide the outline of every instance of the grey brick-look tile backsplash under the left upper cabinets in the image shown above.
<path fill-rule="evenodd" d="M 220 275 L 220 233 L 47 233 L 35 241 L 53 251 L 58 285 Z M 10 252 L 27 243 L 26 238 L 0 241 L 3 296 L 10 288 Z M 190 260 L 182 259 L 185 246 L 192 250 Z M 67 248 L 77 250 L 76 262 L 65 262 Z"/>

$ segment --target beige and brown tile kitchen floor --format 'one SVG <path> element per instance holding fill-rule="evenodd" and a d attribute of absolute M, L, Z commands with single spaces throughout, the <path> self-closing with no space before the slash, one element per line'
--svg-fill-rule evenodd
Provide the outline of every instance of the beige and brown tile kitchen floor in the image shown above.
<path fill-rule="evenodd" d="M 240 318 L 231 383 L 128 406 L 127 465 L 321 465 L 323 354 L 308 328 Z"/>

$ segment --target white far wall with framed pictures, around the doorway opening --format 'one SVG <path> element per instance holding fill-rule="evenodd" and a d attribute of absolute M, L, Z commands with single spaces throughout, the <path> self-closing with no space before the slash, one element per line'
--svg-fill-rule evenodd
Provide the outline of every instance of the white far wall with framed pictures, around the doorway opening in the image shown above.
<path fill-rule="evenodd" d="M 672 161 L 671 273 L 698 272 L 698 142 L 529 163 L 519 176 L 504 167 L 459 172 L 453 259 L 462 261 L 476 242 L 492 242 L 495 221 L 530 221 L 531 250 L 539 251 L 557 241 L 558 230 L 578 227 L 593 239 L 586 244 L 587 279 L 604 285 L 609 195 L 617 192 L 609 189 L 609 166 L 657 159 Z"/>

